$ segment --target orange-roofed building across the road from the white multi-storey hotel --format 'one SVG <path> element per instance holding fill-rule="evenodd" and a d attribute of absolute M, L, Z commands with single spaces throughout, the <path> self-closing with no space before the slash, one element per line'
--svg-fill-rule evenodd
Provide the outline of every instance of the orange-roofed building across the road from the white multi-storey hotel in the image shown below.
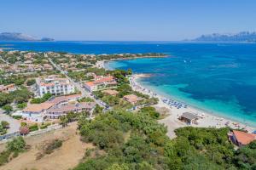
<path fill-rule="evenodd" d="M 93 92 L 101 88 L 106 88 L 107 86 L 113 86 L 116 84 L 117 82 L 115 81 L 115 78 L 112 76 L 99 77 L 93 82 L 84 82 L 84 88 L 86 88 L 90 92 Z"/>

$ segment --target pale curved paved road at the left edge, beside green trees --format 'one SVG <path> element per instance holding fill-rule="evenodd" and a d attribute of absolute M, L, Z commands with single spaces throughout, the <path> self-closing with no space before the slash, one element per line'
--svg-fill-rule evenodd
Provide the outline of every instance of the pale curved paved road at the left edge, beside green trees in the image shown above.
<path fill-rule="evenodd" d="M 9 129 L 7 130 L 7 134 L 15 133 L 15 132 L 19 131 L 19 129 L 20 129 L 20 122 L 17 121 L 16 119 L 12 118 L 11 116 L 3 114 L 2 110 L 0 110 L 0 122 L 1 121 L 9 122 Z"/>

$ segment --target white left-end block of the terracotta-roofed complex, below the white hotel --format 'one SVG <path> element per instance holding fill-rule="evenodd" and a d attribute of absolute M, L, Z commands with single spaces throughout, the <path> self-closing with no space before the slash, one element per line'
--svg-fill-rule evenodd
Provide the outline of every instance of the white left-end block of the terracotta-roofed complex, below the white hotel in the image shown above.
<path fill-rule="evenodd" d="M 22 111 L 22 117 L 31 122 L 44 122 L 46 111 L 53 105 L 51 103 L 27 105 Z"/>

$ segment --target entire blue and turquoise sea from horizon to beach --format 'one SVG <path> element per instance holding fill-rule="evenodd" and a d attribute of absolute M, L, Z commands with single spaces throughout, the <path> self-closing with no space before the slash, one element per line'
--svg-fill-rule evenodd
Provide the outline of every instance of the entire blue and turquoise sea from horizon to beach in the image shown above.
<path fill-rule="evenodd" d="M 155 93 L 256 127 L 256 43 L 0 42 L 0 48 L 75 54 L 163 53 L 166 58 L 113 60 L 106 66 L 150 74 L 139 82 Z"/>

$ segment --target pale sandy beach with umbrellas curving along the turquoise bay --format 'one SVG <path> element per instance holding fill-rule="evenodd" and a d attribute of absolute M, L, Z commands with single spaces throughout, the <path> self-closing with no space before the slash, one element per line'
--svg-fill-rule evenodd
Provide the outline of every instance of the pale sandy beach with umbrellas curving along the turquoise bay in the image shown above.
<path fill-rule="evenodd" d="M 97 63 L 97 66 L 100 68 L 107 69 L 106 62 L 109 62 L 111 60 L 102 60 Z M 176 99 L 170 99 L 168 97 L 164 97 L 160 95 L 159 93 L 156 93 L 148 88 L 143 87 L 143 85 L 139 82 L 140 78 L 143 77 L 150 77 L 148 74 L 134 74 L 130 77 L 130 84 L 131 88 L 137 92 L 140 92 L 142 94 L 148 94 L 151 97 L 155 97 L 159 99 L 159 104 L 154 105 L 156 108 L 166 108 L 169 112 L 169 116 L 166 116 L 164 119 L 161 119 L 159 122 L 164 123 L 168 129 L 167 135 L 170 138 L 175 138 L 176 135 L 174 133 L 174 130 L 179 127 L 186 127 L 186 126 L 192 126 L 192 127 L 230 127 L 230 128 L 240 128 L 243 130 L 247 130 L 247 132 L 252 133 L 255 127 L 252 127 L 250 125 L 243 124 L 242 122 L 236 122 L 234 120 L 231 120 L 230 118 L 226 118 L 223 116 L 215 115 L 214 113 L 209 113 L 208 111 L 204 111 L 203 109 L 196 108 L 192 105 L 187 105 L 184 102 L 179 102 Z M 177 103 L 182 103 L 183 105 L 187 105 L 187 107 L 177 108 L 175 106 L 171 106 L 166 104 L 165 100 L 173 100 Z M 197 121 L 197 124 L 187 125 L 184 122 L 181 122 L 178 120 L 178 117 L 181 116 L 184 112 L 192 112 L 195 115 L 199 116 L 200 118 Z"/>

